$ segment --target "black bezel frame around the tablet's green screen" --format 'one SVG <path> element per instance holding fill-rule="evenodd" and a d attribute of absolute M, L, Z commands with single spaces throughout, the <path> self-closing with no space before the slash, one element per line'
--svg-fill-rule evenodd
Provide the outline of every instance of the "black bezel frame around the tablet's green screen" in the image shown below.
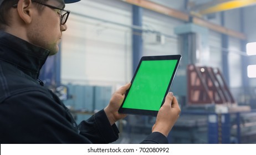
<path fill-rule="evenodd" d="M 133 81 L 135 80 L 136 78 L 136 75 L 137 75 L 137 71 L 139 70 L 140 66 L 141 66 L 141 63 L 142 61 L 148 61 L 148 60 L 177 60 L 177 63 L 176 63 L 176 66 L 175 66 L 175 69 L 173 70 L 173 74 L 172 74 L 172 77 L 170 79 L 170 82 L 168 84 L 168 87 L 167 87 L 167 90 L 165 92 L 165 96 L 168 94 L 169 90 L 170 90 L 170 87 L 172 85 L 172 81 L 176 75 L 176 72 L 177 72 L 177 68 L 178 68 L 178 65 L 180 64 L 180 60 L 181 60 L 181 57 L 182 55 L 157 55 L 157 56 L 142 56 L 142 58 L 140 59 L 140 63 L 139 65 L 137 66 L 137 69 L 135 71 L 135 74 L 134 76 L 132 77 L 132 80 L 131 80 L 131 86 L 132 86 L 132 83 Z M 131 87 L 130 86 L 130 87 Z M 126 96 L 127 94 L 129 94 L 129 91 L 130 89 L 128 89 L 126 91 L 126 94 L 125 94 L 125 98 L 124 100 L 122 101 L 122 104 L 119 108 L 119 113 L 126 113 L 126 114 L 133 114 L 133 115 L 146 115 L 146 116 L 156 116 L 158 111 L 155 111 L 155 110 L 141 110 L 141 109 L 135 109 L 135 108 L 124 108 L 122 107 L 124 105 L 124 102 L 126 100 Z M 165 97 L 162 101 L 162 104 L 161 106 L 163 105 L 163 103 L 165 102 Z M 160 106 L 160 107 L 161 107 Z"/>

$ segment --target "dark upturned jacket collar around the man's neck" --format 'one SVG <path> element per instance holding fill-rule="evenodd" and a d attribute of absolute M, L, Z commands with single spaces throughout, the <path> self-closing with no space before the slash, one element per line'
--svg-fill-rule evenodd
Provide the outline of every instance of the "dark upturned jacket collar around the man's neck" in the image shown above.
<path fill-rule="evenodd" d="M 0 30 L 0 60 L 37 79 L 50 51 Z"/>

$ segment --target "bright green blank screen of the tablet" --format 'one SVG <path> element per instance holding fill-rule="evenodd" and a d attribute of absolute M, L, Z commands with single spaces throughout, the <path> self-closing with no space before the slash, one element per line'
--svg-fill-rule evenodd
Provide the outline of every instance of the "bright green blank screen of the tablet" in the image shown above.
<path fill-rule="evenodd" d="M 122 107 L 158 111 L 176 64 L 177 60 L 142 61 Z"/>

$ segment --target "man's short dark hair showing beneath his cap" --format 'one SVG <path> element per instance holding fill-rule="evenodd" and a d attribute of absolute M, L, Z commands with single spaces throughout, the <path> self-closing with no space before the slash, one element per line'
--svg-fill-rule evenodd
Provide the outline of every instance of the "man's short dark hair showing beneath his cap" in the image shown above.
<path fill-rule="evenodd" d="M 36 2 L 45 3 L 48 0 L 34 0 Z M 9 25 L 9 20 L 12 18 L 11 14 L 9 14 L 10 9 L 13 5 L 17 4 L 19 0 L 5 0 L 0 6 L 0 30 L 4 29 L 7 25 Z M 35 3 L 37 5 L 39 12 L 42 11 L 42 5 Z"/>

